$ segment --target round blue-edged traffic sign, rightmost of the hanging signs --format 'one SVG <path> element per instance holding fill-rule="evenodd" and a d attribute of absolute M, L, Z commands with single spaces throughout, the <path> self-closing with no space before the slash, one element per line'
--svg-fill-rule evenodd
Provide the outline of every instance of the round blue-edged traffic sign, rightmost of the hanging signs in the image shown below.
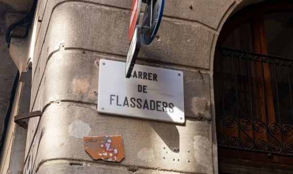
<path fill-rule="evenodd" d="M 164 0 L 150 0 L 142 20 L 142 43 L 149 45 L 159 29 L 164 10 Z"/>

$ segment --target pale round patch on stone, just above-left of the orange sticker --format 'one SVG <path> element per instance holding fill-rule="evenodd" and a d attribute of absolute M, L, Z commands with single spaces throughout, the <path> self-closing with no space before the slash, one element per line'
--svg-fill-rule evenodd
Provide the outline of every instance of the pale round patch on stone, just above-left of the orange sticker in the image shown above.
<path fill-rule="evenodd" d="M 80 120 L 74 121 L 68 126 L 69 135 L 76 138 L 88 136 L 90 130 L 90 126 Z"/>

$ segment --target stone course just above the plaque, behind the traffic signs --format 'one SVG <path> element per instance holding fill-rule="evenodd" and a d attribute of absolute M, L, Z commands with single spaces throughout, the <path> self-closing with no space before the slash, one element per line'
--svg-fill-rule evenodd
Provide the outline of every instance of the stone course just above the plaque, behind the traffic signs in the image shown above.
<path fill-rule="evenodd" d="M 77 10 L 81 8 L 86 10 Z M 128 24 L 128 11 L 87 3 L 62 4 L 54 10 L 50 20 L 47 32 L 48 54 L 64 44 L 65 49 L 93 50 L 126 56 L 129 48 Z M 163 18 L 157 39 L 153 44 L 143 46 L 139 57 L 209 69 L 212 38 L 213 33 L 200 25 Z"/>

